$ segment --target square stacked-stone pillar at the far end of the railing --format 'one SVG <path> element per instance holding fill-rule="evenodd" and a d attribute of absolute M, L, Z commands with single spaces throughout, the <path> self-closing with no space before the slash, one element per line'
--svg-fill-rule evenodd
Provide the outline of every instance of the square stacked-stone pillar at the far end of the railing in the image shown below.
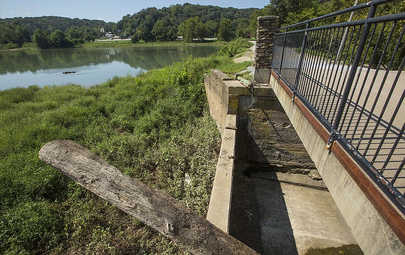
<path fill-rule="evenodd" d="M 254 79 L 259 83 L 269 83 L 273 41 L 278 26 L 278 17 L 258 17 L 257 21 Z"/>

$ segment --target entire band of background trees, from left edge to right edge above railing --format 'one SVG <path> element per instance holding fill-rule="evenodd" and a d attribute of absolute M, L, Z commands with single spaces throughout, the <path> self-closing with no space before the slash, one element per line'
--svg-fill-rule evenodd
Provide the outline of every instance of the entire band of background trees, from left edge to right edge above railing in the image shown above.
<path fill-rule="evenodd" d="M 359 4 L 366 1 L 360 0 Z M 142 9 L 133 15 L 125 15 L 116 23 L 54 16 L 0 19 L 0 48 L 2 45 L 18 48 L 31 42 L 40 48 L 73 47 L 102 37 L 102 27 L 105 32 L 131 37 L 133 43 L 173 41 L 178 36 L 185 41 L 206 37 L 229 41 L 236 37 L 255 37 L 258 16 L 279 16 L 279 24 L 284 26 L 352 5 L 352 0 L 270 0 L 263 9 L 236 9 L 186 3 Z M 382 12 L 405 11 L 404 1 L 386 6 Z M 355 18 L 365 18 L 366 15 L 358 12 Z M 342 20 L 337 18 L 336 22 Z"/>

